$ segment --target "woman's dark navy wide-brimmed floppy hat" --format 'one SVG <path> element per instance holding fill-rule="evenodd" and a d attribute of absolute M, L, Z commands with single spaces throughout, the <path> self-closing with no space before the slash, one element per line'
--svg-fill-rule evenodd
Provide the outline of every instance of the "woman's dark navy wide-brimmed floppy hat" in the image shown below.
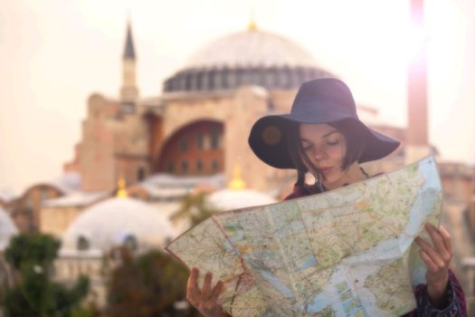
<path fill-rule="evenodd" d="M 382 159 L 399 146 L 399 141 L 369 129 L 358 119 L 356 104 L 345 82 L 323 78 L 304 82 L 290 113 L 269 115 L 257 120 L 249 135 L 254 154 L 274 168 L 295 168 L 287 147 L 290 124 L 332 123 L 345 120 L 365 146 L 359 163 Z"/>

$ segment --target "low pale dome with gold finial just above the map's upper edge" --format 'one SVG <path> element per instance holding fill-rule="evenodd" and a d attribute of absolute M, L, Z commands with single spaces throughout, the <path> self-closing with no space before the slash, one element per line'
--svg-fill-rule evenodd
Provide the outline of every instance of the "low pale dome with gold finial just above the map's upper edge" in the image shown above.
<path fill-rule="evenodd" d="M 221 189 L 207 198 L 208 203 L 219 210 L 233 210 L 245 207 L 269 205 L 277 201 L 268 195 L 252 189 Z"/>

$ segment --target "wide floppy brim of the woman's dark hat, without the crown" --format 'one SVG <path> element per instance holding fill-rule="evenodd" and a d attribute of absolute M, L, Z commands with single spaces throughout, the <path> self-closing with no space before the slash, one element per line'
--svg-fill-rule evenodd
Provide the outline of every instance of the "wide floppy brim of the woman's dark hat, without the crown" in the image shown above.
<path fill-rule="evenodd" d="M 331 117 L 330 117 L 331 116 Z M 289 130 L 290 124 L 295 123 L 332 123 L 339 120 L 348 120 L 356 127 L 356 132 L 360 134 L 360 138 L 364 138 L 365 149 L 359 163 L 383 159 L 397 149 L 400 142 L 392 139 L 380 132 L 372 130 L 354 118 L 338 118 L 335 113 L 318 116 L 300 116 L 296 118 L 291 114 L 271 115 L 262 117 L 252 126 L 249 135 L 249 145 L 254 154 L 264 163 L 274 168 L 296 168 L 292 159 L 290 159 L 289 149 L 287 147 L 286 131 Z"/>

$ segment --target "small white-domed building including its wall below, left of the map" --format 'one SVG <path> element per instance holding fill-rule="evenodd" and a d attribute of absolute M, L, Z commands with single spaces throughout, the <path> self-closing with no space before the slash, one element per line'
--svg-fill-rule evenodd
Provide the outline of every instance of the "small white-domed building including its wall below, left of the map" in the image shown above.
<path fill-rule="evenodd" d="M 176 236 L 166 216 L 147 203 L 113 197 L 88 207 L 62 235 L 55 262 L 55 279 L 62 283 L 90 278 L 90 298 L 106 300 L 105 281 L 114 266 L 114 250 L 125 247 L 133 254 L 163 248 Z"/>

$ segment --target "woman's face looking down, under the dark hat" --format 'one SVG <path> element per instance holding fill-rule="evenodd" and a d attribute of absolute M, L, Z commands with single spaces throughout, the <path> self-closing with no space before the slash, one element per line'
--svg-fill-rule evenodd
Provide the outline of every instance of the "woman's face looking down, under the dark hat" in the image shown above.
<path fill-rule="evenodd" d="M 347 153 L 344 135 L 328 124 L 301 123 L 299 137 L 304 153 L 325 176 L 326 187 L 341 186 L 345 178 L 341 167 Z"/>

